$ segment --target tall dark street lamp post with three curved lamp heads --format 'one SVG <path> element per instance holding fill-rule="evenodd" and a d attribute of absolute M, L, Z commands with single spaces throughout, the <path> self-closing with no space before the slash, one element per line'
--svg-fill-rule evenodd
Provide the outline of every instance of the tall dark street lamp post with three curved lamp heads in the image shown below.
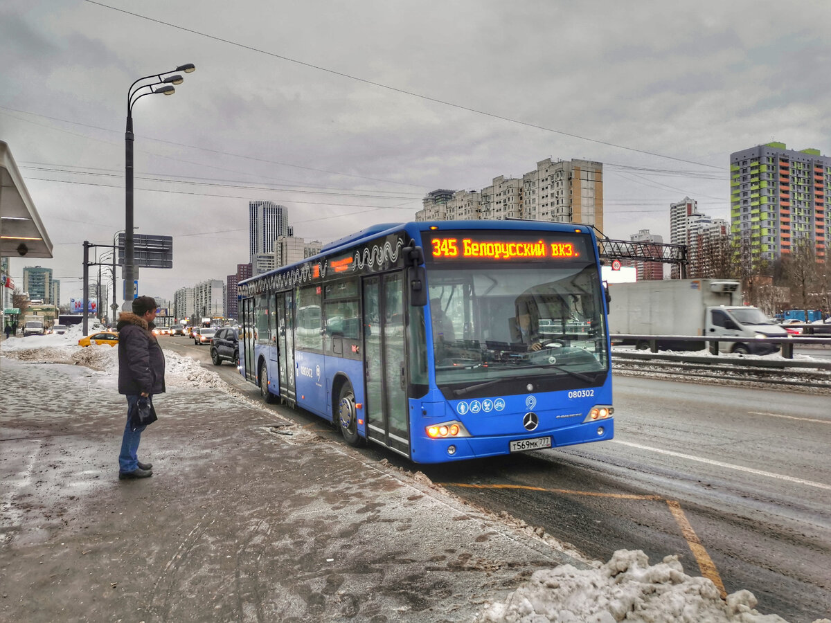
<path fill-rule="evenodd" d="M 160 74 L 144 76 L 130 85 L 127 91 L 127 128 L 125 131 L 125 232 L 124 232 L 124 305 L 121 309 L 125 312 L 133 311 L 133 299 L 135 298 L 135 283 L 133 282 L 135 272 L 135 246 L 133 242 L 133 106 L 144 96 L 161 93 L 165 96 L 172 96 L 176 90 L 173 85 L 180 85 L 184 78 L 176 71 L 190 73 L 196 71 L 192 63 L 179 65 L 170 71 L 163 71 Z M 170 75 L 175 74 L 175 75 Z M 166 77 L 162 77 L 166 76 Z M 147 82 L 155 79 L 155 82 Z M 162 85 L 162 86 L 157 86 Z M 145 91 L 147 89 L 148 91 Z M 144 91 L 144 92 L 142 92 Z"/>

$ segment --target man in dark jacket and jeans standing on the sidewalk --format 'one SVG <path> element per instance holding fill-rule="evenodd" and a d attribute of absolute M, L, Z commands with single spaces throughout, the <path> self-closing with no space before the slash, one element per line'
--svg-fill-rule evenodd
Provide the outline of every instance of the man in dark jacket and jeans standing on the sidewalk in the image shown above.
<path fill-rule="evenodd" d="M 127 396 L 127 422 L 118 456 L 118 478 L 149 478 L 153 465 L 137 457 L 141 433 L 133 429 L 130 410 L 140 398 L 150 400 L 165 392 L 165 355 L 153 335 L 156 302 L 152 297 L 133 301 L 133 313 L 124 312 L 118 319 L 118 393 Z"/>

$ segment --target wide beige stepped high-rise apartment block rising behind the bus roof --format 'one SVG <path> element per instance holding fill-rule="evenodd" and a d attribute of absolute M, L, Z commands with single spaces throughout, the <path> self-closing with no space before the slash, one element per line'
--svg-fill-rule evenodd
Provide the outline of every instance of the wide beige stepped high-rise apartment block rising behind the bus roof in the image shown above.
<path fill-rule="evenodd" d="M 603 228 L 603 164 L 540 160 L 519 178 L 494 178 L 480 191 L 445 189 L 427 194 L 416 221 L 529 218 Z"/>

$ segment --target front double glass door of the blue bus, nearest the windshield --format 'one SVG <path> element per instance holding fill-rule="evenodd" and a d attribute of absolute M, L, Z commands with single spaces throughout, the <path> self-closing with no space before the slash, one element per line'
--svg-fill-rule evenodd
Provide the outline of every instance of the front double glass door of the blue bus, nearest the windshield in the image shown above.
<path fill-rule="evenodd" d="M 366 432 L 409 457 L 404 278 L 391 272 L 366 277 L 363 286 Z"/>

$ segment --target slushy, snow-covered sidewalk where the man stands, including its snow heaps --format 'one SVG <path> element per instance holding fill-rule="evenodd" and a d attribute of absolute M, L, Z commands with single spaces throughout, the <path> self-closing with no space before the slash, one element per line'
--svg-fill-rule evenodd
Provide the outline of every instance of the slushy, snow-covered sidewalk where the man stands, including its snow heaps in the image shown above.
<path fill-rule="evenodd" d="M 154 475 L 119 481 L 116 349 L 53 337 L 0 348 L 3 621 L 782 621 L 671 558 L 579 562 L 170 352 Z"/>

